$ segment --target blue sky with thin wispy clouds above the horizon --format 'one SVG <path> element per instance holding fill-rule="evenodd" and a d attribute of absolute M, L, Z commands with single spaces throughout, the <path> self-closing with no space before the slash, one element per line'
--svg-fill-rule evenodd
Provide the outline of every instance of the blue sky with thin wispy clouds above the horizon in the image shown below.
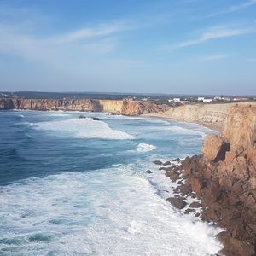
<path fill-rule="evenodd" d="M 256 95 L 256 0 L 0 0 L 0 90 Z"/>

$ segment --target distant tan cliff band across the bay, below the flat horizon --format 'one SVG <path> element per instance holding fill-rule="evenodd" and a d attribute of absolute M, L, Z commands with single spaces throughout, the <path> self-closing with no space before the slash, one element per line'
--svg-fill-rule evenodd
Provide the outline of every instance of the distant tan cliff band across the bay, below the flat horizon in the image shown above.
<path fill-rule="evenodd" d="M 129 100 L 93 99 L 0 99 L 0 109 L 95 111 L 138 115 L 142 113 L 165 112 L 168 107 L 156 102 L 135 102 Z"/>

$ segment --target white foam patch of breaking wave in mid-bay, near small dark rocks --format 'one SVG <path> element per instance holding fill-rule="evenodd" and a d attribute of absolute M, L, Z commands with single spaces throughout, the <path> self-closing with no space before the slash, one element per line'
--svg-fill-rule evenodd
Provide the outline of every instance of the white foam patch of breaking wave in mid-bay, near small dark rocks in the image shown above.
<path fill-rule="evenodd" d="M 34 124 L 35 129 L 44 131 L 61 132 L 61 136 L 102 138 L 102 139 L 134 139 L 133 136 L 124 132 L 111 129 L 107 123 L 92 119 L 67 119 L 61 121 L 41 122 Z M 56 135 L 58 135 L 56 133 Z"/>

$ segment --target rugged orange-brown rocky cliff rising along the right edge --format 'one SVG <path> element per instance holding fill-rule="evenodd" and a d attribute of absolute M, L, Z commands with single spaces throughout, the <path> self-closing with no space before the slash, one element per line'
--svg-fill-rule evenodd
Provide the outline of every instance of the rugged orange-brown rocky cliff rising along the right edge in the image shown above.
<path fill-rule="evenodd" d="M 224 227 L 220 255 L 255 255 L 256 107 L 229 109 L 219 136 L 209 135 L 202 156 L 183 160 L 185 186 L 201 197 L 201 218 Z"/>

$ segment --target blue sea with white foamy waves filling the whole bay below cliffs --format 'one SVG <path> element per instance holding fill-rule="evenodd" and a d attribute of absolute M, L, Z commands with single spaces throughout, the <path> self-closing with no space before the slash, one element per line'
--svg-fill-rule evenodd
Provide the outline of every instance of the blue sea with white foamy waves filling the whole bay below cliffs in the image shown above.
<path fill-rule="evenodd" d="M 152 163 L 200 154 L 209 132 L 107 113 L 0 112 L 0 255 L 217 253 L 219 230 L 173 208 L 172 183 Z"/>

